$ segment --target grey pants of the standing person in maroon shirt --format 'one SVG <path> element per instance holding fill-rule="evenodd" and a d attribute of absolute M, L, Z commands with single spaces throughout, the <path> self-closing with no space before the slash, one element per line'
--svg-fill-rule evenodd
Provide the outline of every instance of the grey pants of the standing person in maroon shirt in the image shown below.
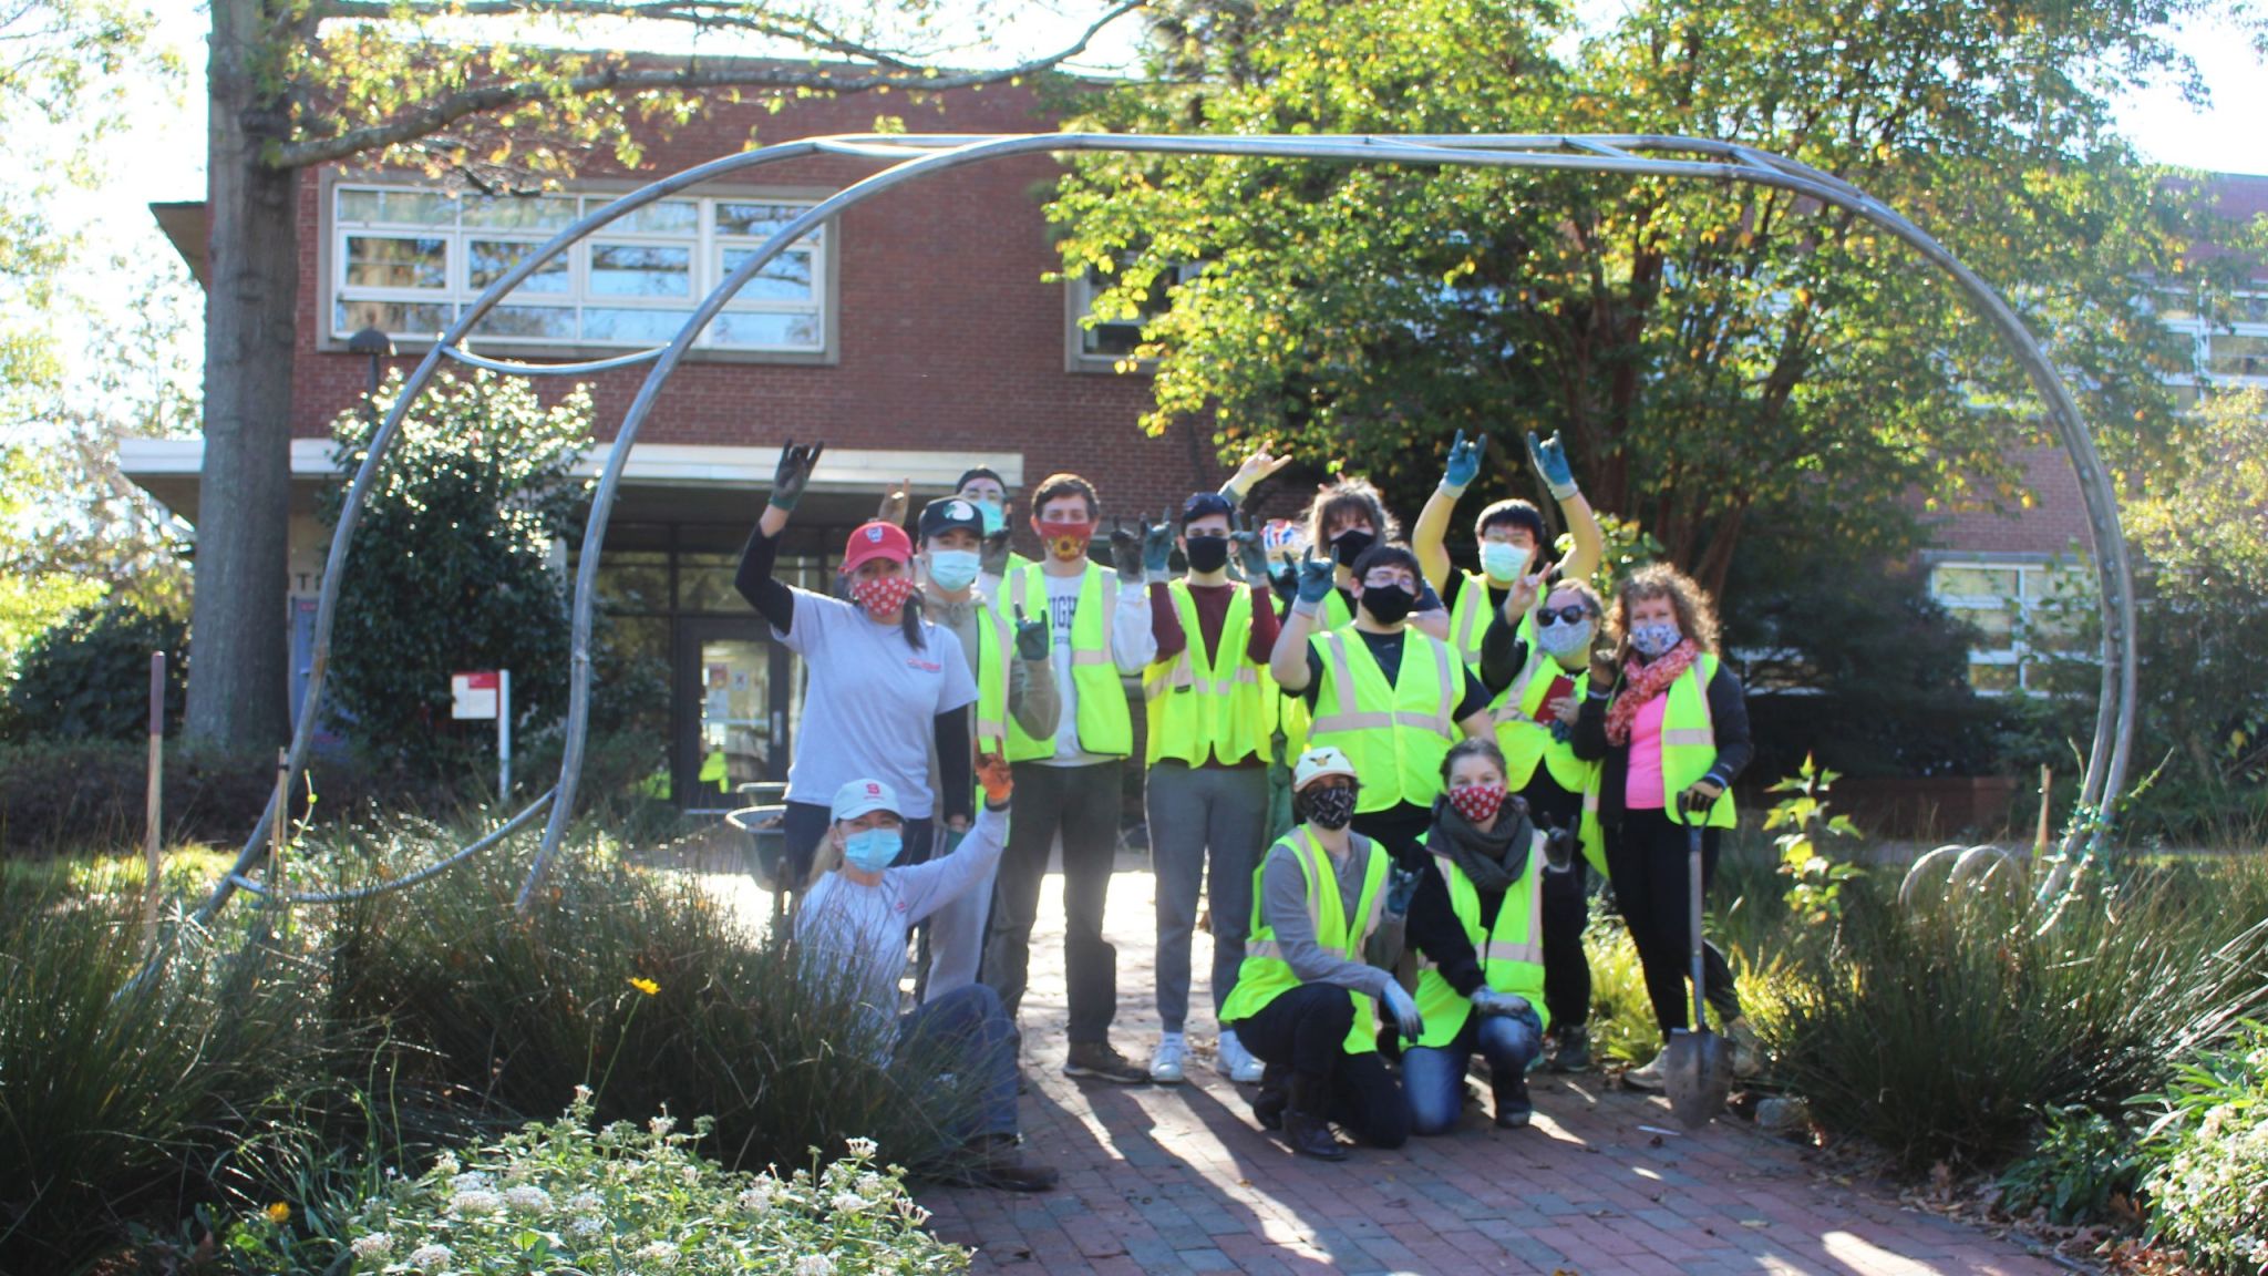
<path fill-rule="evenodd" d="M 1188 1019 L 1188 947 L 1198 888 L 1213 913 L 1213 1015 L 1236 988 L 1252 929 L 1252 870 L 1268 836 L 1266 767 L 1188 767 L 1161 761 L 1143 792 L 1150 870 L 1157 874 L 1157 1017 L 1168 1033 Z M 1207 872 L 1211 861 L 1211 872 Z"/>

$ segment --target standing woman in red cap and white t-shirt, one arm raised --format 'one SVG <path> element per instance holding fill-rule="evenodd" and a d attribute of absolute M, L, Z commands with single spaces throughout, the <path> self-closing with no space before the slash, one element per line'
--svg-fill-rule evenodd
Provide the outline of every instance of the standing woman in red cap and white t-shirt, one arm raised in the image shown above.
<path fill-rule="evenodd" d="M 968 829 L 968 677 L 959 638 L 921 618 L 903 527 L 850 531 L 839 568 L 844 597 L 773 579 L 780 529 L 803 497 L 823 443 L 780 452 L 764 515 L 742 549 L 735 588 L 771 622 L 771 636 L 803 656 L 803 720 L 787 767 L 787 881 L 805 883 L 828 831 L 828 799 L 853 779 L 880 779 L 900 795 L 905 861 L 930 856 L 937 806 L 948 829 Z M 930 749 L 939 788 L 930 790 Z"/>

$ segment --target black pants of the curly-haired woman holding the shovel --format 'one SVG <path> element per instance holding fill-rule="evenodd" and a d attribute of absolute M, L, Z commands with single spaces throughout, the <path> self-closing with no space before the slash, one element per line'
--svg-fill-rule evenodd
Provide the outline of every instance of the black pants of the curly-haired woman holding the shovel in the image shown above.
<path fill-rule="evenodd" d="M 1615 883 L 1622 920 L 1631 926 L 1637 960 L 1647 969 L 1647 994 L 1662 1035 L 1690 1026 L 1692 1001 L 1685 985 L 1692 972 L 1690 917 L 1685 897 L 1685 824 L 1672 824 L 1660 811 L 1624 811 L 1622 824 L 1606 829 L 1606 874 Z M 1701 831 L 1701 895 L 1717 874 L 1717 829 Z M 1706 945 L 1701 974 L 1708 983 L 1708 1006 L 1719 1019 L 1740 1017 L 1733 992 L 1733 967 Z"/>

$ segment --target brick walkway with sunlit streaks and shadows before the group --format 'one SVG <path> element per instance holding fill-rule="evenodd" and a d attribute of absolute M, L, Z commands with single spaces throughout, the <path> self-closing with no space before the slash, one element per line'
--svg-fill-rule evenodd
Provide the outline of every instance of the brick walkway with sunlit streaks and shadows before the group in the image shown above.
<path fill-rule="evenodd" d="M 1114 1040 L 1136 1060 L 1157 1040 L 1145 867 L 1120 858 L 1107 915 Z M 1905 1210 L 1880 1185 L 1833 1178 L 1737 1119 L 1685 1133 L 1662 1099 L 1608 1090 L 1599 1074 L 1535 1074 L 1524 1131 L 1497 1131 L 1476 1099 L 1442 1138 L 1354 1149 L 1338 1165 L 1297 1158 L 1252 1122 L 1250 1088 L 1211 1067 L 1202 933 L 1188 1083 L 1070 1081 L 1059 888 L 1050 876 L 1023 1006 L 1023 1128 L 1064 1183 L 1039 1197 L 921 1192 L 932 1228 L 975 1246 L 978 1271 L 2057 1271 L 2014 1242 Z"/>

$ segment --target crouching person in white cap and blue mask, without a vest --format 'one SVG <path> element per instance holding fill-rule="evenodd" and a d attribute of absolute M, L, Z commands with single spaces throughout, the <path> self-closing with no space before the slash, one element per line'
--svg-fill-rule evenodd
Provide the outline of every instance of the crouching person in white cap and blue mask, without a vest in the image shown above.
<path fill-rule="evenodd" d="M 1007 758 L 982 756 L 978 779 L 984 808 L 950 856 L 891 867 L 903 847 L 905 817 L 898 795 L 878 779 L 855 779 L 835 792 L 828 842 L 841 867 L 819 879 L 796 908 L 796 942 L 844 972 L 873 1015 L 894 1015 L 905 974 L 905 935 L 930 913 L 966 890 L 991 881 L 1007 840 L 1007 806 L 1014 792 Z M 885 1019 L 887 1022 L 887 1019 Z M 968 983 L 923 1001 L 896 1019 L 898 1051 L 953 1053 L 982 1076 L 982 1108 L 968 1138 L 971 1183 L 1014 1192 L 1055 1187 L 1055 1167 L 1023 1160 L 1016 1151 L 1016 1024 L 1000 1008 L 1000 994 Z M 912 1047 L 912 1049 L 909 1049 Z"/>

